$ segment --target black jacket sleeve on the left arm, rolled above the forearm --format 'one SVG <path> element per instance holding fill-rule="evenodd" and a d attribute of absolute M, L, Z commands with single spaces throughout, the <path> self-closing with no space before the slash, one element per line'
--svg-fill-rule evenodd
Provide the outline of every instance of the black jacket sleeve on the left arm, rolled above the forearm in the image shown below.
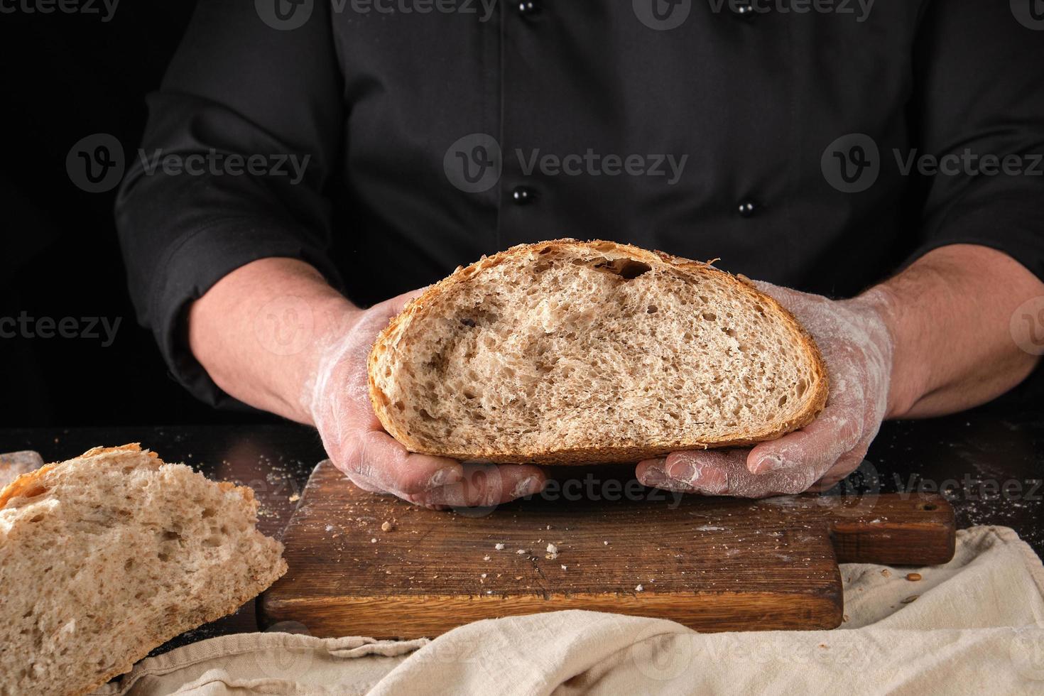
<path fill-rule="evenodd" d="M 200 0 L 148 97 L 144 140 L 116 200 L 139 320 L 174 377 L 212 405 L 230 398 L 188 349 L 189 304 L 268 257 L 305 260 L 335 282 L 322 192 L 340 147 L 340 73 L 329 3 L 312 4 L 303 26 L 281 30 L 253 2 Z"/>

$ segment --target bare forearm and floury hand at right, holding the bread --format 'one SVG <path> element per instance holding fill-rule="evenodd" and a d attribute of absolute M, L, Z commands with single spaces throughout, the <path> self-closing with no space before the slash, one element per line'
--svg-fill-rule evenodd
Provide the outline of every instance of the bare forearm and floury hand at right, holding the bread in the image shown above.
<path fill-rule="evenodd" d="M 854 299 L 758 284 L 815 338 L 830 394 L 805 428 L 753 449 L 674 452 L 643 461 L 646 485 L 759 498 L 829 488 L 854 471 L 885 417 L 943 415 L 1016 386 L 1039 357 L 1011 322 L 1044 284 L 995 249 L 932 249 Z"/>

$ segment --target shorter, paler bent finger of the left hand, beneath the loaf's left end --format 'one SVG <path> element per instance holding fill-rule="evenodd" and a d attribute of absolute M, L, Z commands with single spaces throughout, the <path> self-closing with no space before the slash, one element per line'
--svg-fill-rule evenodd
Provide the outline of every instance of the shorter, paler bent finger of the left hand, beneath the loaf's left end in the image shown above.
<path fill-rule="evenodd" d="M 421 494 L 464 478 L 464 469 L 455 459 L 409 452 L 390 435 L 377 430 L 356 436 L 343 467 L 399 497 Z"/>

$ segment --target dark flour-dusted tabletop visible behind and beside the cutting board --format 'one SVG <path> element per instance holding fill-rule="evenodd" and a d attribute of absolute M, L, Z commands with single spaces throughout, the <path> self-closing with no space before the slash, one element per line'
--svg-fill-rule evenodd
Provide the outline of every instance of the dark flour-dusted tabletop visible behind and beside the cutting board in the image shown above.
<path fill-rule="evenodd" d="M 141 442 L 166 461 L 184 461 L 211 478 L 251 486 L 261 505 L 259 527 L 277 536 L 308 475 L 326 456 L 315 432 L 295 425 L 0 429 L 0 452 L 35 450 L 45 461 L 126 442 Z M 1044 411 L 980 409 L 886 423 L 859 472 L 832 493 L 942 493 L 956 510 L 958 528 L 1013 527 L 1044 556 Z M 157 652 L 254 630 L 251 602 Z"/>

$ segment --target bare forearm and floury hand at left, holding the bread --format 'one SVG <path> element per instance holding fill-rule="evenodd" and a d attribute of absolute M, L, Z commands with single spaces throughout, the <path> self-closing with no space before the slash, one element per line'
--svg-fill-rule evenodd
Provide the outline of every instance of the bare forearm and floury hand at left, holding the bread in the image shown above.
<path fill-rule="evenodd" d="M 189 344 L 226 392 L 314 425 L 333 463 L 367 490 L 429 507 L 489 506 L 538 493 L 544 474 L 536 466 L 413 454 L 381 428 L 366 358 L 377 334 L 417 294 L 360 310 L 312 266 L 260 259 L 192 305 Z"/>

